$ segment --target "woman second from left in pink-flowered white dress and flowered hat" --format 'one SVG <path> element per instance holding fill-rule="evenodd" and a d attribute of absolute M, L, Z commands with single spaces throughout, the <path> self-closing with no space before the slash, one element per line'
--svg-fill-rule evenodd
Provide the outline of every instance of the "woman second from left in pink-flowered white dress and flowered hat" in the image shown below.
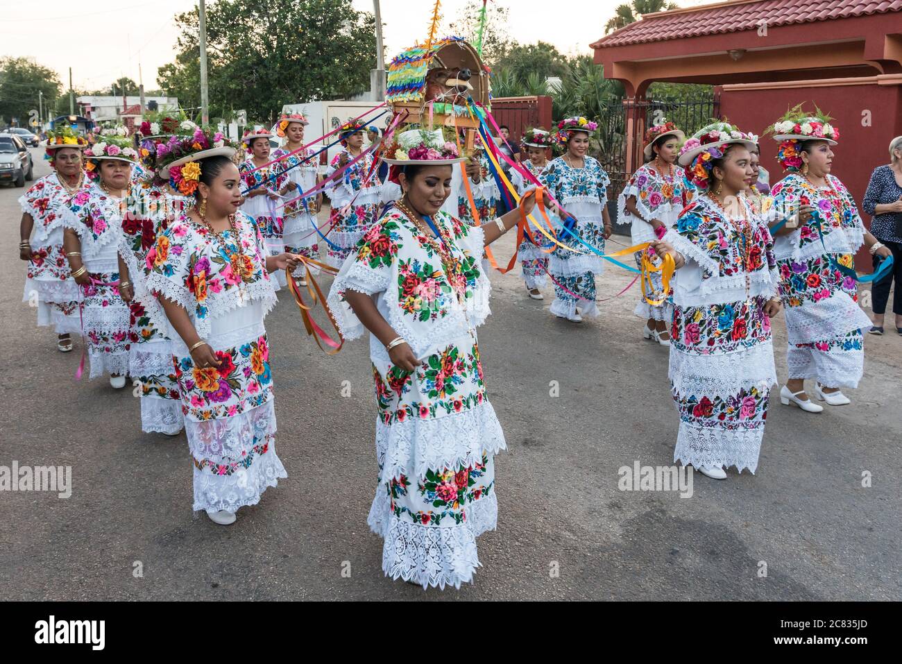
<path fill-rule="evenodd" d="M 119 281 L 118 251 L 137 152 L 127 139 L 106 136 L 85 156 L 92 182 L 69 199 L 63 244 L 72 278 L 81 287 L 90 377 L 110 374 L 110 384 L 120 389 L 128 373 L 129 311 L 119 289 L 130 284 Z"/>

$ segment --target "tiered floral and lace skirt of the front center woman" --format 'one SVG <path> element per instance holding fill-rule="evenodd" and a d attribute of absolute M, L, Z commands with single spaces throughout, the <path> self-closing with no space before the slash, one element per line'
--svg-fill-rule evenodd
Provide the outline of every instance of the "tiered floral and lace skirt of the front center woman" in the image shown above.
<path fill-rule="evenodd" d="M 476 538 L 496 525 L 493 457 L 505 447 L 475 337 L 429 355 L 415 374 L 371 357 L 380 480 L 367 521 L 384 539 L 382 570 L 459 588 L 480 567 Z"/>

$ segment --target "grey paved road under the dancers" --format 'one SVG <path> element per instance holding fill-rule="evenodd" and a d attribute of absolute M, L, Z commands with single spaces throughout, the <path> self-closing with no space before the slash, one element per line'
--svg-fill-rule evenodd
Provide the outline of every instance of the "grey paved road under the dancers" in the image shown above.
<path fill-rule="evenodd" d="M 35 150 L 40 157 L 40 151 Z M 47 172 L 36 159 L 37 174 Z M 902 338 L 867 338 L 854 405 L 813 416 L 775 400 L 757 475 L 695 475 L 691 498 L 621 492 L 618 469 L 668 465 L 676 412 L 667 350 L 640 337 L 634 291 L 578 327 L 492 275 L 481 330 L 498 458 L 499 528 L 472 586 L 444 593 L 382 576 L 366 527 L 376 476 L 367 346 L 327 357 L 281 294 L 267 319 L 289 478 L 235 526 L 192 520 L 185 438 L 140 432 L 139 404 L 74 383 L 21 300 L 21 189 L 0 189 L 0 465 L 72 466 L 68 500 L 0 493 L 0 596 L 11 599 L 899 599 Z M 510 255 L 508 244 L 497 254 Z M 603 293 L 620 291 L 616 269 Z M 777 329 L 778 373 L 785 333 Z M 342 383 L 351 386 L 341 396 Z M 549 396 L 557 381 L 560 394 Z M 861 486 L 862 471 L 872 485 Z M 140 561 L 143 576 L 133 576 Z M 347 561 L 347 562 L 345 562 Z M 759 576 L 766 564 L 767 576 Z M 350 576 L 342 576 L 343 569 Z M 554 575 L 553 569 L 559 570 Z"/>

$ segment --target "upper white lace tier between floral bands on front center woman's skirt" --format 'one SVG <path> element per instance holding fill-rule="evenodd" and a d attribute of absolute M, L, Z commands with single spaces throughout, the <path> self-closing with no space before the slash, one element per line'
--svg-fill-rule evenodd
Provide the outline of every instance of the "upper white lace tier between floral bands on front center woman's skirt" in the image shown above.
<path fill-rule="evenodd" d="M 480 463 L 507 448 L 502 425 L 492 404 L 483 401 L 471 410 L 438 418 L 415 417 L 376 423 L 376 448 L 385 450 L 380 484 L 393 477 L 421 477 L 429 468 L 456 468 Z"/>

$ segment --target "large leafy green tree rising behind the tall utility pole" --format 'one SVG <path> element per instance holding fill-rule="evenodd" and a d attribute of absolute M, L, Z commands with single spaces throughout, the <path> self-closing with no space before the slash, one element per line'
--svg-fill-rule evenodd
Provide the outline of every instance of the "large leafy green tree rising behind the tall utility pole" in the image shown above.
<path fill-rule="evenodd" d="M 198 12 L 175 17 L 175 60 L 157 74 L 184 108 L 200 106 Z M 286 103 L 350 97 L 369 89 L 375 64 L 373 14 L 351 0 L 219 0 L 207 7 L 210 117 L 272 122 Z M 198 114 L 195 114 L 196 116 Z"/>

